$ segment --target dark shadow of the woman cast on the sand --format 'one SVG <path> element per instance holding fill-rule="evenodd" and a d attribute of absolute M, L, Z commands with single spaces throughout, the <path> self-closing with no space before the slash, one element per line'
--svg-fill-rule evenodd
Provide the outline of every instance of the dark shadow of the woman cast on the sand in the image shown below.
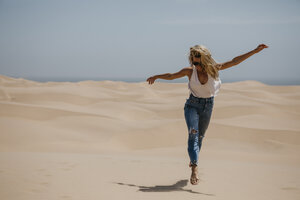
<path fill-rule="evenodd" d="M 175 192 L 175 191 L 182 191 L 182 192 L 190 192 L 194 194 L 203 194 L 208 196 L 214 196 L 214 194 L 206 194 L 201 192 L 195 192 L 193 190 L 183 189 L 183 187 L 187 186 L 188 180 L 180 180 L 177 181 L 173 185 L 155 185 L 155 186 L 141 186 L 141 185 L 134 185 L 134 184 L 127 184 L 127 183 L 116 183 L 118 185 L 127 185 L 130 187 L 138 187 L 141 192 Z"/>

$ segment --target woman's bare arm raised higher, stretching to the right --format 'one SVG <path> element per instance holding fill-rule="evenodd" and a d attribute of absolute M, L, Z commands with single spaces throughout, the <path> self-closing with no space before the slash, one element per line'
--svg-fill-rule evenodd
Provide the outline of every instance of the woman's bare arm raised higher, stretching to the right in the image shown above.
<path fill-rule="evenodd" d="M 260 52 L 264 48 L 268 48 L 268 46 L 265 45 L 265 44 L 260 44 L 254 50 L 249 51 L 248 53 L 245 53 L 243 55 L 237 56 L 237 57 L 233 58 L 231 61 L 221 63 L 221 64 L 219 64 L 219 66 L 220 66 L 219 70 L 224 70 L 224 69 L 227 69 L 229 67 L 238 65 L 241 62 L 243 62 L 244 60 L 246 60 L 247 58 L 249 58 L 250 56 L 252 56 L 252 55 Z"/>

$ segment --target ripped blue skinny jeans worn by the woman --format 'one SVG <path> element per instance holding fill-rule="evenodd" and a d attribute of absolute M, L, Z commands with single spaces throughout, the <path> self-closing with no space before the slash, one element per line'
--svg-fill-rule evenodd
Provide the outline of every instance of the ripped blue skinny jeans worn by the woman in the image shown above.
<path fill-rule="evenodd" d="M 184 116 L 189 134 L 188 153 L 191 165 L 198 165 L 202 140 L 210 122 L 213 106 L 214 97 L 198 98 L 191 94 L 186 100 Z"/>

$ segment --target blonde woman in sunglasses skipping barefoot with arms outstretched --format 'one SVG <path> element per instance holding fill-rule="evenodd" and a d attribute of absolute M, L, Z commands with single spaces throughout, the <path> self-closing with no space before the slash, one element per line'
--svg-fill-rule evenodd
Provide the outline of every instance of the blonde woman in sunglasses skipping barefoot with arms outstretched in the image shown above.
<path fill-rule="evenodd" d="M 205 131 L 208 128 L 214 105 L 214 97 L 219 92 L 221 80 L 219 71 L 235 66 L 255 53 L 268 48 L 265 44 L 258 45 L 254 50 L 233 58 L 231 61 L 216 63 L 209 50 L 203 45 L 190 48 L 190 67 L 185 67 L 176 73 L 166 73 L 149 77 L 147 81 L 153 84 L 158 78 L 173 80 L 188 76 L 190 96 L 184 106 L 184 116 L 188 128 L 189 166 L 192 169 L 190 182 L 198 184 L 198 155 L 201 149 Z"/>

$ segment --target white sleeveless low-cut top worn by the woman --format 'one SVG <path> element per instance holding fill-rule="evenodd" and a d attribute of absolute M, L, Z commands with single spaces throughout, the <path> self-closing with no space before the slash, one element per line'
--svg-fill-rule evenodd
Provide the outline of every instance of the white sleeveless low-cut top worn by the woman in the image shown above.
<path fill-rule="evenodd" d="M 193 73 L 191 76 L 191 80 L 189 80 L 188 87 L 190 90 L 190 94 L 192 93 L 195 97 L 208 98 L 217 96 L 221 87 L 221 79 L 217 78 L 215 80 L 208 74 L 208 81 L 204 85 L 202 85 L 198 79 L 197 69 L 195 65 L 193 65 Z"/>

